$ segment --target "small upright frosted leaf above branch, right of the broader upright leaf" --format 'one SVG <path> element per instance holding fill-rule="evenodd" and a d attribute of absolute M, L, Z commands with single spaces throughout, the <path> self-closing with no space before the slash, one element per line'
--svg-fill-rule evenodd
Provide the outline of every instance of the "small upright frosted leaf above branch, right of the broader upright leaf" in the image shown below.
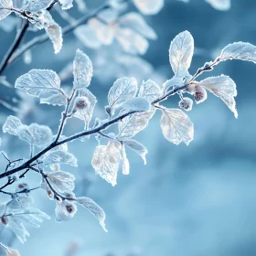
<path fill-rule="evenodd" d="M 161 95 L 162 91 L 154 80 L 143 81 L 139 91 L 140 97 L 144 97 L 148 101 L 152 102 L 158 99 Z"/>

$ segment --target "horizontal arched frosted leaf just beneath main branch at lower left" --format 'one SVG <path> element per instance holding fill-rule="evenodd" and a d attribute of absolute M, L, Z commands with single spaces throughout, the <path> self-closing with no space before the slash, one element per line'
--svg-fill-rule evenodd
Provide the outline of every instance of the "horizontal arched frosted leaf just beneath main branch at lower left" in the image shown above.
<path fill-rule="evenodd" d="M 53 150 L 50 151 L 44 160 L 44 165 L 68 164 L 78 166 L 77 158 L 67 151 Z"/>

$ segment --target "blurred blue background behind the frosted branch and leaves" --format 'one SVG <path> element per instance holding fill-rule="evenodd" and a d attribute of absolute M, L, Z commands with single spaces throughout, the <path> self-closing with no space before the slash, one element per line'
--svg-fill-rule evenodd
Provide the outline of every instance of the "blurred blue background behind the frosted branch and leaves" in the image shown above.
<path fill-rule="evenodd" d="M 86 1 L 89 10 L 101 3 Z M 136 9 L 129 5 L 126 12 L 129 11 Z M 62 27 L 67 25 L 57 11 L 52 14 Z M 76 18 L 83 15 L 76 5 L 69 14 Z M 30 69 L 54 69 L 61 74 L 80 48 L 91 57 L 95 69 L 90 87 L 98 99 L 95 116 L 105 118 L 107 93 L 116 78 L 154 79 L 162 84 L 173 76 L 168 48 L 176 34 L 188 30 L 195 39 L 195 56 L 190 68 L 194 74 L 229 43 L 245 41 L 256 45 L 255 14 L 253 0 L 232 0 L 228 11 L 219 11 L 203 0 L 188 3 L 165 0 L 165 7 L 157 15 L 144 16 L 158 36 L 150 41 L 144 56 L 133 58 L 115 45 L 86 48 L 70 33 L 64 37 L 58 55 L 54 55 L 50 42 L 38 45 L 31 51 L 31 62 L 27 61 L 30 58 L 27 53 L 27 59 L 16 61 L 4 75 L 14 84 L 18 76 Z M 5 31 L 6 22 L 0 22 L 1 59 L 16 35 L 16 29 L 11 27 L 16 19 L 12 17 L 7 22 L 8 31 Z M 32 37 L 35 32 L 29 32 L 26 40 Z M 149 151 L 147 165 L 127 150 L 131 174 L 123 176 L 120 172 L 116 187 L 94 174 L 91 158 L 97 143 L 93 138 L 69 144 L 69 151 L 78 157 L 79 167 L 65 166 L 64 170 L 77 177 L 77 196 L 91 197 L 105 210 L 108 233 L 84 208 L 79 208 L 69 222 L 55 222 L 55 203 L 48 200 L 44 191 L 35 191 L 35 205 L 52 219 L 44 221 L 40 229 L 27 227 L 30 237 L 25 244 L 7 229 L 1 229 L 0 240 L 26 256 L 256 255 L 255 72 L 253 63 L 236 60 L 223 62 L 211 74 L 201 77 L 226 74 L 235 80 L 239 119 L 234 118 L 223 101 L 208 93 L 208 100 L 194 104 L 188 113 L 195 125 L 195 140 L 189 146 L 177 146 L 165 140 L 159 125 L 161 114 L 157 112 L 144 132 L 135 137 Z M 71 77 L 63 77 L 63 86 L 71 85 Z M 57 132 L 60 107 L 39 105 L 37 99 L 17 94 L 5 86 L 0 90 L 5 106 L 6 102 L 15 106 L 15 109 L 0 106 L 1 124 L 7 115 L 17 114 L 23 123 L 47 124 Z M 166 106 L 177 107 L 177 102 L 176 96 Z M 65 133 L 77 132 L 82 127 L 80 120 L 73 119 Z M 6 134 L 1 137 L 2 147 L 12 159 L 28 154 L 26 143 Z M 5 159 L 0 163 L 4 170 Z M 33 174 L 27 180 L 39 182 Z M 1 201 L 6 198 L 1 195 Z"/>

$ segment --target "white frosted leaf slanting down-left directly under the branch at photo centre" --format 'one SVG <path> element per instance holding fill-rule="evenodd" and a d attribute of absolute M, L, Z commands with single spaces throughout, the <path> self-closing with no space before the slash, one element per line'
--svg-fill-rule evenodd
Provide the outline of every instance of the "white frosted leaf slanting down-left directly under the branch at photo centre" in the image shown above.
<path fill-rule="evenodd" d="M 143 131 L 154 114 L 155 110 L 153 109 L 150 112 L 137 112 L 124 117 L 118 123 L 119 138 L 131 138 L 135 134 Z"/>

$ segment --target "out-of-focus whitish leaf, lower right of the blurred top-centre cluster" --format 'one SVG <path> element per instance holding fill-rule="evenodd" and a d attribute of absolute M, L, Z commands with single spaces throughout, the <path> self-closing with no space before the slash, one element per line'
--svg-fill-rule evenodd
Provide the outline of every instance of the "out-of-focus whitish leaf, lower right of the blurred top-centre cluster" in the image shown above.
<path fill-rule="evenodd" d="M 149 46 L 148 41 L 130 28 L 117 28 L 115 37 L 123 49 L 131 54 L 144 55 Z"/>

